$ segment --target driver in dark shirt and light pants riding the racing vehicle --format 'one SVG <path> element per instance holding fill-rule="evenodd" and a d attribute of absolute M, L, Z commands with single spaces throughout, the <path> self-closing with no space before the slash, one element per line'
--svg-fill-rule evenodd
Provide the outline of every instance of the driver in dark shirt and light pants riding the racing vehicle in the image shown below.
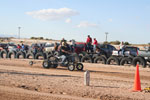
<path fill-rule="evenodd" d="M 61 63 L 63 64 L 64 61 L 66 60 L 67 56 L 71 53 L 70 47 L 67 43 L 62 42 L 62 45 L 60 47 L 60 57 L 62 58 Z"/>

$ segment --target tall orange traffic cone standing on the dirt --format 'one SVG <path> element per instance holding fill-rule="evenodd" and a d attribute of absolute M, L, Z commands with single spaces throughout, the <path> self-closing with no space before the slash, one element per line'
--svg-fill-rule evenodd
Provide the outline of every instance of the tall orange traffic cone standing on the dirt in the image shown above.
<path fill-rule="evenodd" d="M 139 75 L 139 64 L 136 65 L 136 72 L 135 72 L 135 80 L 134 80 L 134 88 L 133 91 L 141 91 L 141 82 L 140 82 L 140 75 Z"/>

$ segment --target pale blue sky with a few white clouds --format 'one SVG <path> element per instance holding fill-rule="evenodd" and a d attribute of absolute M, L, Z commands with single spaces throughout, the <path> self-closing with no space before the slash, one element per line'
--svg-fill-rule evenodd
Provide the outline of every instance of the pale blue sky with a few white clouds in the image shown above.
<path fill-rule="evenodd" d="M 0 0 L 0 36 L 150 43 L 150 0 Z"/>

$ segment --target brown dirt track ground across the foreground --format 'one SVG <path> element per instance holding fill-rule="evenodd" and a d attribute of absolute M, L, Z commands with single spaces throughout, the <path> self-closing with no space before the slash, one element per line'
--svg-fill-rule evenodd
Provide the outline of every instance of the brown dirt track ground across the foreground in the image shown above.
<path fill-rule="evenodd" d="M 150 100 L 150 93 L 131 92 L 134 67 L 84 64 L 91 74 L 84 86 L 84 71 L 43 69 L 41 62 L 0 59 L 0 100 Z M 150 68 L 140 68 L 142 89 L 150 86 Z"/>

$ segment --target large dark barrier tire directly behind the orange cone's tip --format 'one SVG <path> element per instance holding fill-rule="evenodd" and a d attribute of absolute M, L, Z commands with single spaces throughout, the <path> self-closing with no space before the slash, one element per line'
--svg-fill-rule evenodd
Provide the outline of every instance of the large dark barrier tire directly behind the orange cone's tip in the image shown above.
<path fill-rule="evenodd" d="M 136 66 L 138 63 L 139 63 L 139 65 L 142 65 L 143 68 L 146 67 L 146 61 L 144 58 L 142 58 L 142 57 L 133 58 L 132 65 Z"/>

